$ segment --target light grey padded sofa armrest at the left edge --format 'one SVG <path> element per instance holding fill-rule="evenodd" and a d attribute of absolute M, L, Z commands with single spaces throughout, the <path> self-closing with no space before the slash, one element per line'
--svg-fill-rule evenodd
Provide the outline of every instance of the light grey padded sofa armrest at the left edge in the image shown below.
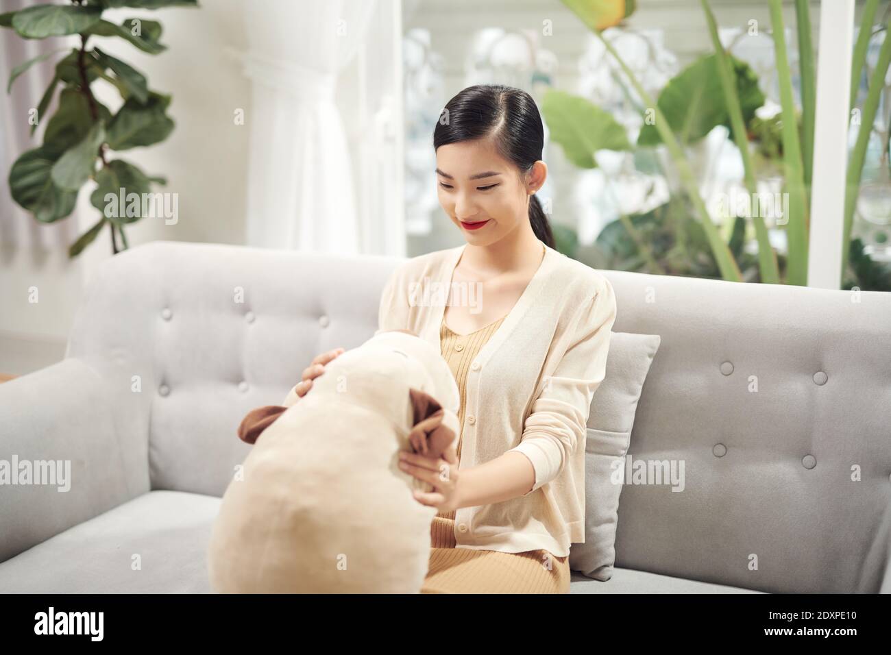
<path fill-rule="evenodd" d="M 0 561 L 149 490 L 129 368 L 70 357 L 0 384 Z"/>

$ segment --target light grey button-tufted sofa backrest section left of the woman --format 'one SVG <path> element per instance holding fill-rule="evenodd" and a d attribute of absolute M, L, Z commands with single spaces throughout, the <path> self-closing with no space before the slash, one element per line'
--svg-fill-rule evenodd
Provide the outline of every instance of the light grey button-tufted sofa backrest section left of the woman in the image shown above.
<path fill-rule="evenodd" d="M 223 495 L 249 453 L 244 414 L 279 405 L 319 353 L 377 329 L 386 258 L 151 242 L 87 285 L 67 356 L 114 356 L 147 405 L 152 489 Z"/>

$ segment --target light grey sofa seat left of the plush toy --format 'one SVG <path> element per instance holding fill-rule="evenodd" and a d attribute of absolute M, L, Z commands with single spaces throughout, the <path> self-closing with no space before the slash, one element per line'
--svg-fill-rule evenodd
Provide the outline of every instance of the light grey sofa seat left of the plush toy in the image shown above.
<path fill-rule="evenodd" d="M 209 593 L 220 499 L 151 491 L 0 563 L 7 594 Z M 141 569 L 134 569 L 138 555 Z"/>

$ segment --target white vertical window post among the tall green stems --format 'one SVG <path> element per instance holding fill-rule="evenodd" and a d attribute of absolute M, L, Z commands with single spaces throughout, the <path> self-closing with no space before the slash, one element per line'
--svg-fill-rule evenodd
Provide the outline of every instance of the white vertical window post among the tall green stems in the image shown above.
<path fill-rule="evenodd" d="M 869 26 L 864 26 L 868 29 Z M 817 106 L 813 129 L 811 230 L 807 286 L 841 287 L 845 223 L 848 89 L 854 47 L 854 0 L 823 0 L 817 59 Z M 869 129 L 862 126 L 862 129 Z"/>

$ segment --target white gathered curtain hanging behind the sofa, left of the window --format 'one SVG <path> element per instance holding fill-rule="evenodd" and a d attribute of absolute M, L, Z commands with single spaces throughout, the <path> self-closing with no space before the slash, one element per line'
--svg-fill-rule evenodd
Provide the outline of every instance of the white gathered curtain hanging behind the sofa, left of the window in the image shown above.
<path fill-rule="evenodd" d="M 335 89 L 377 0 L 245 4 L 253 82 L 247 242 L 355 254 L 359 221 Z"/>

